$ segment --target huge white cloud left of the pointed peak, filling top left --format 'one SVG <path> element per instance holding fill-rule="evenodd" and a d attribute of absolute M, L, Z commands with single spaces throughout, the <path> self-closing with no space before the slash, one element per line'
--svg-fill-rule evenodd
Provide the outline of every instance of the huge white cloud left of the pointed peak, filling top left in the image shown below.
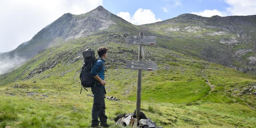
<path fill-rule="evenodd" d="M 0 52 L 8 52 L 30 40 L 64 13 L 91 11 L 102 0 L 1 0 Z"/>

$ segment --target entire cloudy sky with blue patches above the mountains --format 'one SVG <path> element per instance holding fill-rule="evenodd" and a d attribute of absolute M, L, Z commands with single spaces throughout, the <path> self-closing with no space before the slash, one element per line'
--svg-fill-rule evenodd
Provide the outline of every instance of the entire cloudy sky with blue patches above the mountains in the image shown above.
<path fill-rule="evenodd" d="M 102 5 L 135 25 L 171 19 L 183 13 L 255 15 L 255 0 L 1 0 L 0 52 L 30 40 L 64 13 L 82 14 Z"/>

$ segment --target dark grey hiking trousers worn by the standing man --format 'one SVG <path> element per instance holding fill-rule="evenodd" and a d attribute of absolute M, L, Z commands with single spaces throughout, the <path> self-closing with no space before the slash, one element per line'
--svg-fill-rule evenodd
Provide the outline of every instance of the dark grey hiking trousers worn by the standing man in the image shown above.
<path fill-rule="evenodd" d="M 97 126 L 100 124 L 107 124 L 108 117 L 105 114 L 105 100 L 104 91 L 105 89 L 100 85 L 93 85 L 91 87 L 93 94 L 93 105 L 92 105 L 92 124 L 91 126 Z M 100 121 L 98 121 L 100 118 Z"/>

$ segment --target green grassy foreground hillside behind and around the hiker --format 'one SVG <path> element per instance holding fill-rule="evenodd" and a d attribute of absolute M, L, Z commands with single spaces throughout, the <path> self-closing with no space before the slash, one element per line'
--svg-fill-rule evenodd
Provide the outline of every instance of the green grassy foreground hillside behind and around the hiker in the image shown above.
<path fill-rule="evenodd" d="M 120 127 L 113 119 L 116 114 L 134 111 L 137 83 L 137 71 L 123 69 L 123 60 L 136 60 L 138 46 L 127 45 L 124 38 L 113 38 L 112 35 L 89 36 L 56 44 L 6 78 L 0 76 L 3 85 L 0 87 L 0 126 L 88 127 L 93 99 L 86 96 L 90 90 L 79 94 L 81 51 L 86 48 L 96 50 L 104 45 L 110 49 L 106 63 L 107 96 L 121 99 L 106 100 L 106 112 L 111 127 Z M 157 39 L 157 43 L 164 43 L 163 40 Z M 229 91 L 256 82 L 254 76 L 158 46 L 145 46 L 144 51 L 144 60 L 156 62 L 159 69 L 143 71 L 141 108 L 157 125 L 167 128 L 256 126 L 256 112 L 249 107 L 256 107 L 255 96 L 244 95 L 245 100 L 242 99 L 244 96 Z M 62 53 L 65 54 L 58 56 Z M 71 63 L 79 55 L 79 60 Z M 57 60 L 58 64 L 27 79 L 30 72 L 50 60 Z M 214 84 L 213 90 L 205 83 L 207 80 Z M 39 94 L 27 96 L 28 92 Z"/>

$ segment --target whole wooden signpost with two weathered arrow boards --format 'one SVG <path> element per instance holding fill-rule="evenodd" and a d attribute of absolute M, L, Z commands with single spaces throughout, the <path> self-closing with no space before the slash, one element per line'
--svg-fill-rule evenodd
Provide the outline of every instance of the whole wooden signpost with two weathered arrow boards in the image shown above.
<path fill-rule="evenodd" d="M 143 45 L 156 44 L 156 36 L 144 36 L 143 32 L 140 32 L 140 36 L 128 36 L 125 41 L 128 44 L 139 44 L 139 57 L 138 61 L 126 60 L 126 69 L 138 70 L 137 81 L 137 101 L 136 101 L 136 118 L 140 117 L 140 104 L 141 104 L 141 77 L 142 70 L 154 71 L 157 65 L 155 62 L 145 62 Z"/>

